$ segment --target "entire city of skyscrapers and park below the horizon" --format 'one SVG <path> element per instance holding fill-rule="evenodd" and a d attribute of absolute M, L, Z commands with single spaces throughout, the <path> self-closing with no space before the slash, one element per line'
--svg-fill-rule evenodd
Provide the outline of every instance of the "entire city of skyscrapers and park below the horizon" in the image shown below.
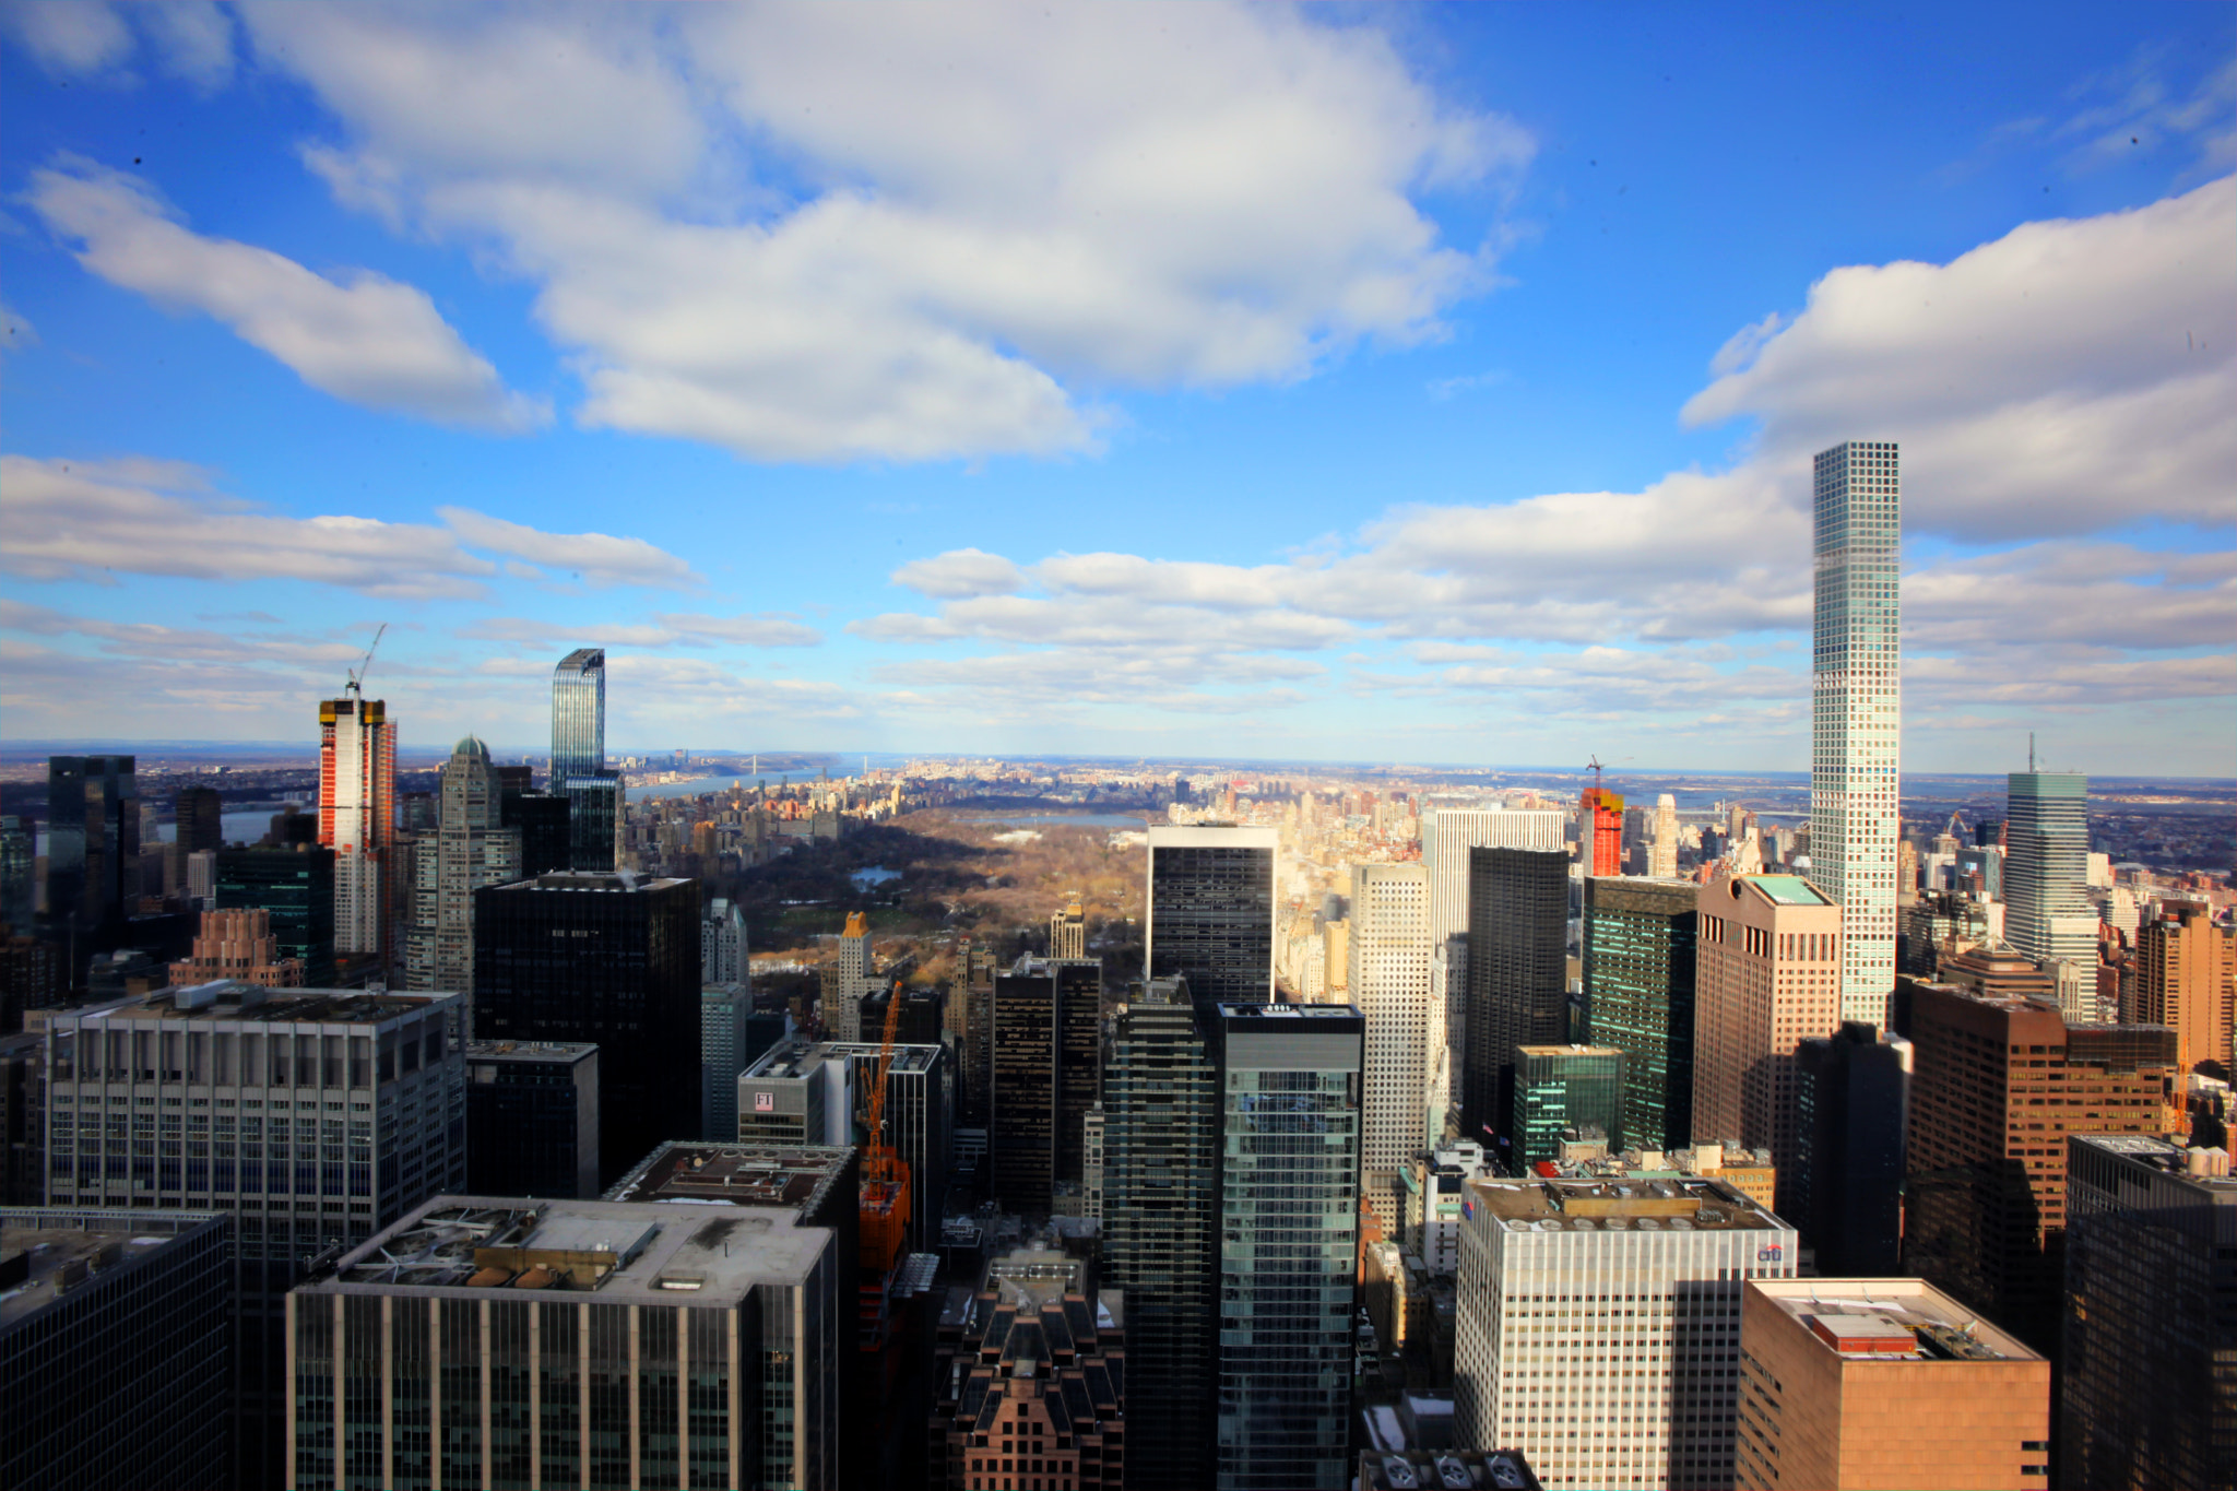
<path fill-rule="evenodd" d="M 1814 483 L 1807 776 L 13 751 L 0 1482 L 2230 1484 L 2237 789 Z"/>

